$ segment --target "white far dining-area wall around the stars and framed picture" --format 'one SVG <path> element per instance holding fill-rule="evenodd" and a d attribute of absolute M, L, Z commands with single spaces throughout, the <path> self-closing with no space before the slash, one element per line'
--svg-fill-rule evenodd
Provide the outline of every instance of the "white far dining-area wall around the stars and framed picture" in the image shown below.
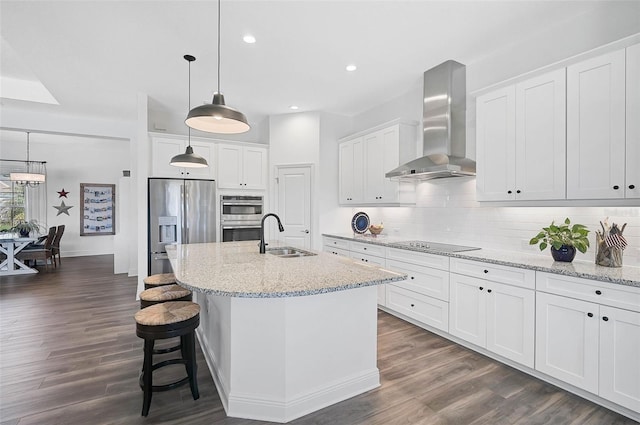
<path fill-rule="evenodd" d="M 4 131 L 3 134 L 9 132 Z M 25 159 L 26 139 L 24 133 L 18 138 L 3 138 L 3 159 Z M 116 184 L 122 170 L 130 169 L 129 140 L 79 137 L 71 135 L 31 134 L 30 159 L 47 161 L 47 226 L 64 224 L 65 233 L 61 249 L 62 256 L 113 254 L 113 236 L 80 236 L 80 183 Z M 60 198 L 58 191 L 69 192 Z M 69 215 L 57 215 L 61 201 L 72 206 Z M 124 213 L 124 214 L 123 214 Z M 120 217 L 127 214 L 116 203 L 116 232 L 122 225 Z"/>

